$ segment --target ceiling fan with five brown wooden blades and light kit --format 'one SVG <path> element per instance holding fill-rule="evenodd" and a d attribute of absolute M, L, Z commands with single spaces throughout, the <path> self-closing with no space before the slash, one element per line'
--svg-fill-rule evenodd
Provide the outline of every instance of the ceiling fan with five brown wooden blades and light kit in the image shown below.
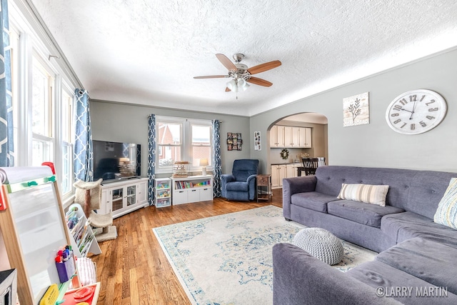
<path fill-rule="evenodd" d="M 229 78 L 231 80 L 226 84 L 226 92 L 238 92 L 240 89 L 245 91 L 249 86 L 247 83 L 269 87 L 272 85 L 271 82 L 266 81 L 265 79 L 259 79 L 258 77 L 252 75 L 261 73 L 263 71 L 268 71 L 270 69 L 276 68 L 277 66 L 281 66 L 281 61 L 268 61 L 264 64 L 259 64 L 257 66 L 248 68 L 248 66 L 245 64 L 241 64 L 244 55 L 239 53 L 233 54 L 235 64 L 233 64 L 233 62 L 231 62 L 231 60 L 224 54 L 216 54 L 216 57 L 219 59 L 219 61 L 221 61 L 221 64 L 223 64 L 226 69 L 229 70 L 228 75 L 195 76 L 194 79 Z M 236 96 L 236 98 L 238 99 L 238 96 Z"/>

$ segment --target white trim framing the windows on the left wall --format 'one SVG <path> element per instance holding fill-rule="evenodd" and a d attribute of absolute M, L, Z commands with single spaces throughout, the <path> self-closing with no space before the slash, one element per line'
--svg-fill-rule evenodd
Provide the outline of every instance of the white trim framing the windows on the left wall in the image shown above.
<path fill-rule="evenodd" d="M 78 77 L 74 73 L 73 69 L 66 60 L 61 49 L 54 41 L 50 31 L 46 28 L 44 21 L 41 19 L 39 14 L 36 14 L 36 10 L 29 4 L 29 0 L 9 0 L 9 29 L 10 32 L 17 34 L 17 41 L 15 43 L 16 57 L 15 57 L 15 85 L 16 85 L 16 96 L 17 109 L 15 120 L 16 141 L 15 144 L 15 166 L 30 166 L 31 165 L 31 151 L 33 139 L 39 139 L 39 141 L 46 141 L 46 138 L 33 134 L 31 128 L 31 109 L 29 102 L 31 100 L 31 71 L 33 66 L 33 56 L 38 59 L 41 65 L 43 65 L 46 71 L 51 72 L 51 76 L 54 79 L 51 86 L 53 90 L 52 96 L 52 112 L 51 121 L 52 129 L 50 136 L 52 137 L 52 146 L 54 160 L 56 168 L 57 181 L 61 181 L 61 175 L 63 174 L 63 155 L 60 151 L 61 144 L 66 141 L 74 141 L 74 136 L 71 139 L 64 139 L 61 134 L 61 124 L 63 124 L 61 111 L 63 109 L 60 106 L 61 103 L 61 92 L 66 91 L 70 96 L 74 95 L 76 88 L 84 89 Z M 14 37 L 11 36 L 11 37 Z M 17 44 L 16 44 L 17 42 Z M 72 111 L 72 109 L 70 109 Z M 71 118 L 72 120 L 73 118 Z M 73 132 L 73 131 L 71 131 Z M 51 138 L 48 138 L 51 139 Z M 71 144 L 72 145 L 72 144 Z M 71 158 L 72 159 L 72 158 Z M 71 162 L 71 166 L 73 166 Z M 62 171 L 62 172 L 61 172 Z M 71 169 L 72 171 L 72 169 Z M 71 174 L 73 179 L 73 174 Z M 71 185 L 73 180 L 71 181 Z M 73 187 L 71 192 L 62 194 L 64 208 L 71 204 L 73 201 Z"/>

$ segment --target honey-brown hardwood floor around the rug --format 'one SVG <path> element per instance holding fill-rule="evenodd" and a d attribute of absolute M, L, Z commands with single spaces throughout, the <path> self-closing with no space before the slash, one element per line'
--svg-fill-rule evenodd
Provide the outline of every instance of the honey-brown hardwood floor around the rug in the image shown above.
<path fill-rule="evenodd" d="M 117 239 L 101 242 L 102 253 L 91 256 L 101 282 L 97 304 L 191 304 L 152 229 L 268 204 L 282 207 L 282 189 L 273 190 L 271 201 L 217 198 L 161 209 L 148 206 L 114 219 Z"/>

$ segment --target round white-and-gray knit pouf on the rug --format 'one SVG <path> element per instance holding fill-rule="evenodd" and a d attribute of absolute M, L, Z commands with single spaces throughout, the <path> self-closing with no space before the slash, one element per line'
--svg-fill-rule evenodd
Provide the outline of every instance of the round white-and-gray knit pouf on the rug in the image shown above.
<path fill-rule="evenodd" d="M 329 265 L 338 264 L 343 259 L 341 241 L 321 228 L 301 229 L 293 237 L 293 244 Z"/>

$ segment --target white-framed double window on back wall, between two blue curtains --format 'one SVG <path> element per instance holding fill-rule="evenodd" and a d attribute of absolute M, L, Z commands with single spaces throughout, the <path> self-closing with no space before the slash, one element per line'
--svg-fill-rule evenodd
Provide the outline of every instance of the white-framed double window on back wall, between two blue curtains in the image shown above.
<path fill-rule="evenodd" d="M 174 161 L 189 161 L 191 171 L 199 171 L 199 159 L 211 166 L 211 121 L 158 116 L 156 121 L 156 172 L 169 173 Z"/>

